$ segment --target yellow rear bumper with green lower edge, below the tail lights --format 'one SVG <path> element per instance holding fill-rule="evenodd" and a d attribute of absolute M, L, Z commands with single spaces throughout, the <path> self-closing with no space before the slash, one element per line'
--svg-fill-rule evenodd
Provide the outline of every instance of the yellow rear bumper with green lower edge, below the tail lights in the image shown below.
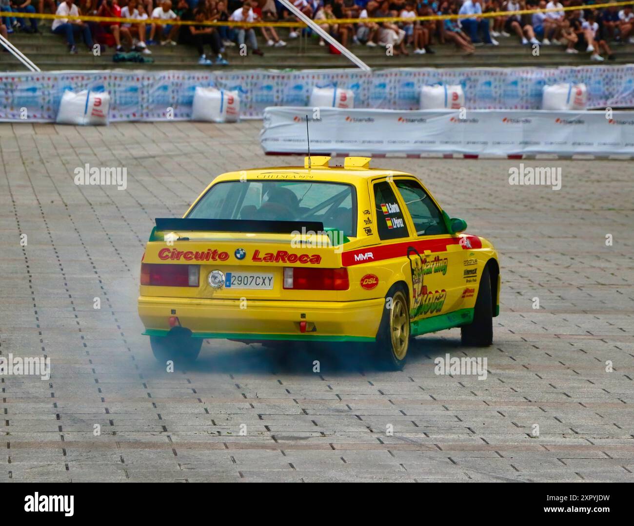
<path fill-rule="evenodd" d="M 365 301 L 256 301 L 140 296 L 145 332 L 169 332 L 178 316 L 194 337 L 297 341 L 374 341 L 383 298 Z M 302 316 L 303 315 L 303 316 Z M 306 322 L 306 332 L 301 332 Z"/>

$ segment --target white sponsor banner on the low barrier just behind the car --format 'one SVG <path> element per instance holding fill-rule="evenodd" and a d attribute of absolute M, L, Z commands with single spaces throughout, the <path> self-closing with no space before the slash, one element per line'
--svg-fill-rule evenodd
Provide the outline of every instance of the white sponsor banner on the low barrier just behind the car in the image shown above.
<path fill-rule="evenodd" d="M 306 153 L 306 108 L 267 108 L 266 153 Z M 614 111 L 396 111 L 321 108 L 310 121 L 311 153 L 634 153 L 634 113 Z"/>

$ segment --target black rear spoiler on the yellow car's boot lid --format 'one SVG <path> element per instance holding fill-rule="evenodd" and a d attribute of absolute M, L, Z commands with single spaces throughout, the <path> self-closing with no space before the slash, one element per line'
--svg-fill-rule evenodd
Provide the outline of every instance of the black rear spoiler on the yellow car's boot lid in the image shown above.
<path fill-rule="evenodd" d="M 323 232 L 320 221 L 259 221 L 251 219 L 183 219 L 156 218 L 150 241 L 155 232 L 252 232 L 254 234 L 292 234 L 292 232 Z M 303 229 L 303 230 L 302 230 Z"/>

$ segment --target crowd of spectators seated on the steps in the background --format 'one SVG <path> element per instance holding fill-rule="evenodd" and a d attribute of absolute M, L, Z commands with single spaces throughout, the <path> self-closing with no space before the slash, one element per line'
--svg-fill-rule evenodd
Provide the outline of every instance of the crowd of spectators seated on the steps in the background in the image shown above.
<path fill-rule="evenodd" d="M 435 53 L 432 46 L 453 45 L 465 54 L 478 46 L 498 46 L 496 39 L 515 38 L 532 46 L 562 46 L 565 53 L 588 53 L 593 61 L 614 59 L 611 46 L 634 43 L 632 6 L 592 8 L 595 0 L 291 0 L 343 46 L 389 47 L 393 54 Z M 240 46 L 248 53 L 263 55 L 258 46 L 261 34 L 266 46 L 283 47 L 287 39 L 303 32 L 319 46 L 323 37 L 299 23 L 299 18 L 277 0 L 0 0 L 3 16 L 0 34 L 36 33 L 50 30 L 77 53 L 78 44 L 93 52 L 94 44 L 152 54 L 154 45 L 195 47 L 202 65 L 226 65 L 227 47 Z M 564 7 L 585 8 L 564 10 Z M 524 9 L 538 9 L 522 14 Z M 545 11 L 555 9 L 554 11 Z M 61 18 L 26 18 L 23 13 L 55 13 Z M 482 16 L 484 13 L 500 16 Z M 414 20 L 417 16 L 465 15 L 459 20 Z M 67 18 L 96 15 L 128 18 L 134 22 L 82 22 Z M 399 22 L 371 22 L 373 18 L 400 17 Z M 346 21 L 347 19 L 347 21 Z M 191 22 L 179 25 L 174 22 Z M 337 22 L 342 20 L 342 22 Z M 354 20 L 354 22 L 351 22 Z M 204 22 L 235 22 L 236 25 L 204 25 Z M 249 27 L 249 22 L 298 22 L 297 27 Z M 330 46 L 333 53 L 337 53 Z"/>

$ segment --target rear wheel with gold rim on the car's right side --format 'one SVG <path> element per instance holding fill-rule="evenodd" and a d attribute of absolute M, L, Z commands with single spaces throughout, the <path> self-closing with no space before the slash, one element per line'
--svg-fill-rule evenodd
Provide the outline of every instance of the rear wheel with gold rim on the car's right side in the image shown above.
<path fill-rule="evenodd" d="M 410 343 L 410 308 L 403 287 L 392 287 L 385 299 L 389 297 L 392 298 L 392 308 L 387 308 L 386 301 L 374 352 L 383 368 L 399 371 L 407 360 Z"/>

